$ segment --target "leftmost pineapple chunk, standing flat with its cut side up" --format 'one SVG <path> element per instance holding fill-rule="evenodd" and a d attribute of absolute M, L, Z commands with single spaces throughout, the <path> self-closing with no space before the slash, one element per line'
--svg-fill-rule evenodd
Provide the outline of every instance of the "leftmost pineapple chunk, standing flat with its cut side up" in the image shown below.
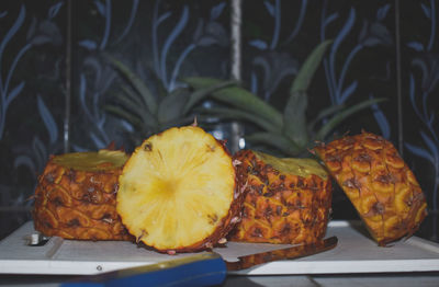
<path fill-rule="evenodd" d="M 35 230 L 78 240 L 131 240 L 116 213 L 127 154 L 115 150 L 52 156 L 35 188 Z"/>

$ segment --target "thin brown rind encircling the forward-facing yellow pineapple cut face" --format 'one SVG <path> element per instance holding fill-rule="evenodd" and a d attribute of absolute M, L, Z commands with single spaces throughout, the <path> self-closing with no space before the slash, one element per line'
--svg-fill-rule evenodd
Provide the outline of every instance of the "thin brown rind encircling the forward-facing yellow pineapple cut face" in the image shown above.
<path fill-rule="evenodd" d="M 194 130 L 201 130 L 202 133 L 205 133 L 202 128 L 200 128 L 198 126 L 183 126 L 183 127 L 169 128 L 165 131 L 161 131 L 161 133 L 158 133 L 158 134 L 151 136 L 150 138 L 161 137 L 165 133 L 168 133 L 169 130 L 184 130 L 184 129 L 194 129 Z M 140 153 L 140 152 L 144 152 L 144 150 L 151 149 L 151 146 L 149 144 L 150 138 L 145 139 L 144 142 L 135 149 L 135 151 L 132 154 L 132 158 L 136 153 Z M 216 221 L 215 230 L 209 237 L 202 238 L 199 241 L 196 241 L 192 244 L 189 244 L 189 245 L 179 245 L 179 246 L 172 246 L 172 248 L 158 248 L 157 245 L 148 244 L 148 242 L 143 239 L 142 233 L 136 234 L 135 232 L 132 232 L 131 228 L 130 228 L 130 223 L 125 222 L 124 215 L 123 215 L 124 213 L 123 213 L 122 208 L 120 208 L 120 200 L 121 200 L 120 198 L 123 195 L 122 195 L 122 193 L 120 193 L 120 194 L 117 194 L 117 204 L 116 204 L 117 211 L 121 215 L 122 221 L 127 227 L 128 232 L 131 232 L 131 234 L 135 238 L 135 241 L 137 243 L 142 242 L 146 246 L 151 248 L 159 253 L 167 253 L 167 254 L 173 255 L 176 253 L 201 252 L 201 251 L 206 251 L 206 250 L 209 251 L 215 246 L 224 245 L 227 242 L 227 239 L 226 239 L 227 234 L 239 222 L 240 217 L 241 217 L 241 213 L 243 213 L 241 206 L 243 206 L 243 202 L 244 202 L 244 188 L 238 188 L 238 180 L 236 176 L 236 167 L 233 162 L 233 157 L 225 145 L 226 141 L 218 140 L 218 139 L 215 139 L 215 141 L 218 144 L 218 147 L 224 151 L 224 153 L 230 158 L 230 164 L 233 167 L 233 171 L 235 174 L 234 187 L 233 187 L 233 200 L 229 205 L 227 214 L 221 219 L 215 219 L 215 221 Z M 125 164 L 125 167 L 122 171 L 122 174 L 120 175 L 120 179 L 122 176 L 124 176 L 124 173 L 126 172 L 126 169 L 128 169 L 128 165 L 130 165 L 130 160 Z M 121 180 L 120 180 L 120 183 L 122 184 Z M 122 188 L 123 187 L 121 187 L 121 190 Z M 215 200 L 215 198 L 212 198 L 212 200 Z"/>

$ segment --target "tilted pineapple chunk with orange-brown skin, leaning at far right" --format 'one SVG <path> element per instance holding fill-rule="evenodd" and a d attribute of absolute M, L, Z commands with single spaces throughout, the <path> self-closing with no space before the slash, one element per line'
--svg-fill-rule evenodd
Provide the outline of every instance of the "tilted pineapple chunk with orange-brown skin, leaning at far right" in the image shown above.
<path fill-rule="evenodd" d="M 379 245 L 410 237 L 427 216 L 415 175 L 392 142 L 362 131 L 314 151 L 336 179 Z"/>

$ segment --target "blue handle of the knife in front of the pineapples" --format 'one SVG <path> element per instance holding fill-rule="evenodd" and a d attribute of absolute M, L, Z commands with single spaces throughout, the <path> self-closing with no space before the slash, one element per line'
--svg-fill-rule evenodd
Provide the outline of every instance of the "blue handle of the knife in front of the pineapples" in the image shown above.
<path fill-rule="evenodd" d="M 223 259 L 202 253 L 153 265 L 132 267 L 99 275 L 82 276 L 63 287 L 113 286 L 212 286 L 221 285 L 227 275 Z"/>

